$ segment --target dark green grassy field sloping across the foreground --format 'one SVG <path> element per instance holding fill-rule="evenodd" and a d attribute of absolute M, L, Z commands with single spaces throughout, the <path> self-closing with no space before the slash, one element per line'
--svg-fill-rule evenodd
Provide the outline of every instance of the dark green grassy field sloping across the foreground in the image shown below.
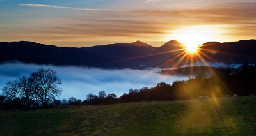
<path fill-rule="evenodd" d="M 4 111 L 0 135 L 256 135 L 256 97 Z"/>

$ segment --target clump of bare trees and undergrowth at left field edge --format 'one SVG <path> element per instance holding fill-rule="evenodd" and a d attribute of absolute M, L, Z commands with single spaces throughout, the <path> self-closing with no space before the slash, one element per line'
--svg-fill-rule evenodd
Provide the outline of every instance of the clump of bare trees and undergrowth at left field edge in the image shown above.
<path fill-rule="evenodd" d="M 0 109 L 38 109 L 56 106 L 62 90 L 58 85 L 61 80 L 51 69 L 39 69 L 29 77 L 7 81 L 0 96 Z"/>

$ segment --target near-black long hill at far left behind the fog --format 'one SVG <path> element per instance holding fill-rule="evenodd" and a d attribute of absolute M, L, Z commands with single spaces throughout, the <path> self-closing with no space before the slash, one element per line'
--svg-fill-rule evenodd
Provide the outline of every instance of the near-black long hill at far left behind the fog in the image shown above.
<path fill-rule="evenodd" d="M 35 42 L 0 42 L 0 62 L 21 61 L 24 63 L 74 65 L 107 61 L 98 54 L 74 47 L 56 47 Z"/>

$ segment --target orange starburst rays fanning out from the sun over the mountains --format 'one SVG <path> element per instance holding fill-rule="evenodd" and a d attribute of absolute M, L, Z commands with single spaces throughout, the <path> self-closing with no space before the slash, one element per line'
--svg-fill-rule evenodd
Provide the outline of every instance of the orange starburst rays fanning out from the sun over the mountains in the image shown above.
<path fill-rule="evenodd" d="M 195 38 L 195 36 L 191 37 L 191 38 Z M 196 40 L 196 39 L 193 39 L 193 40 Z M 194 45 L 196 45 L 196 44 L 194 44 Z M 143 57 L 157 56 L 157 55 L 160 55 L 160 54 L 168 54 L 170 52 L 177 52 L 177 54 L 175 56 L 172 56 L 170 59 L 168 59 L 168 60 L 164 61 L 163 63 L 159 64 L 159 66 L 157 66 L 154 69 L 148 71 L 147 73 L 145 73 L 145 75 L 142 75 L 141 77 L 139 77 L 135 81 L 145 79 L 148 76 L 152 75 L 152 73 L 156 72 L 158 69 L 161 69 L 161 68 L 171 69 L 172 71 L 167 70 L 165 74 L 166 75 L 172 75 L 175 72 L 175 69 L 179 68 L 180 66 L 190 66 L 190 76 L 193 77 L 193 76 L 195 76 L 193 66 L 195 66 L 196 63 L 200 63 L 200 62 L 202 62 L 205 66 L 207 66 L 207 68 L 209 69 L 209 72 L 211 72 L 212 74 L 216 74 L 216 73 L 214 73 L 214 70 L 212 70 L 212 68 L 210 68 L 210 64 L 207 61 L 212 61 L 212 62 L 217 62 L 218 63 L 218 61 L 216 61 L 216 59 L 209 56 L 209 53 L 214 54 L 215 52 L 219 52 L 219 51 L 211 50 L 211 49 L 204 49 L 204 47 L 207 46 L 207 45 L 211 45 L 211 44 L 204 44 L 204 45 L 200 45 L 200 46 L 196 45 L 196 48 L 194 50 L 192 50 L 192 49 L 189 50 L 188 45 L 187 45 L 185 48 L 181 48 L 181 49 L 169 50 L 169 51 L 166 51 L 166 52 L 157 52 L 157 53 L 154 53 L 154 54 L 147 54 L 147 55 L 143 55 L 143 56 L 129 57 L 129 58 L 125 58 L 125 59 L 118 59 L 118 60 L 115 60 L 115 61 L 108 61 L 106 63 L 93 64 L 93 66 L 98 66 L 98 65 L 102 65 L 102 64 L 110 64 L 110 63 L 118 63 L 118 62 L 121 62 L 121 61 L 129 61 L 129 60 L 133 60 L 133 59 L 140 59 L 140 58 L 143 58 Z M 235 55 L 235 54 L 230 54 L 228 52 L 221 52 L 221 54 L 233 55 L 233 56 Z M 199 70 L 200 70 L 200 68 L 199 68 Z M 182 70 L 182 73 L 183 72 L 184 72 L 184 70 Z M 166 77 L 163 77 L 163 78 L 166 78 Z"/>

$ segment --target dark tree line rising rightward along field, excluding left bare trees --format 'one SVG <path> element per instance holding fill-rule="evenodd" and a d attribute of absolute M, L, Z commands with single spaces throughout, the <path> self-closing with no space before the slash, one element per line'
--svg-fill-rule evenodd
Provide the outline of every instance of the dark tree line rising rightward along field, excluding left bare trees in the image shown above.
<path fill-rule="evenodd" d="M 256 64 L 247 61 L 239 68 L 220 67 L 211 76 L 200 73 L 187 81 L 176 81 L 172 85 L 165 82 L 155 87 L 129 89 L 119 98 L 115 94 L 106 94 L 100 91 L 98 96 L 88 94 L 83 102 L 79 100 L 72 105 L 108 105 L 114 103 L 164 101 L 197 99 L 199 96 L 208 98 L 229 96 L 251 96 L 256 93 Z"/>

